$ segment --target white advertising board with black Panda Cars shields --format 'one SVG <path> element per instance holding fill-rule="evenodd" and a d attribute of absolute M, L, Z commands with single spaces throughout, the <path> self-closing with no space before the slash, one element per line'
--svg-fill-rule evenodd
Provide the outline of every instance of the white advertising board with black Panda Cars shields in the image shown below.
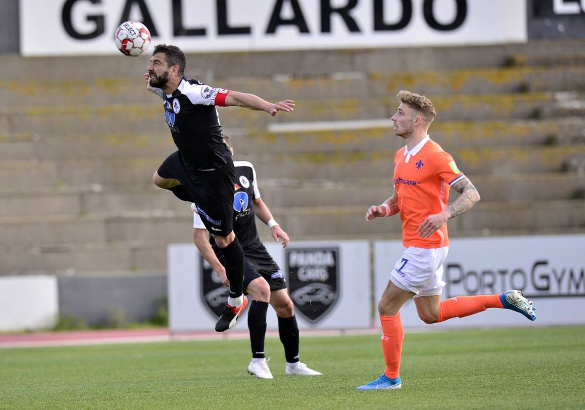
<path fill-rule="evenodd" d="M 355 329 L 371 325 L 367 241 L 266 244 L 284 271 L 300 329 Z M 214 329 L 227 290 L 193 244 L 168 246 L 169 327 L 172 332 Z M 246 314 L 239 319 L 246 327 Z M 278 329 L 274 309 L 268 329 Z"/>

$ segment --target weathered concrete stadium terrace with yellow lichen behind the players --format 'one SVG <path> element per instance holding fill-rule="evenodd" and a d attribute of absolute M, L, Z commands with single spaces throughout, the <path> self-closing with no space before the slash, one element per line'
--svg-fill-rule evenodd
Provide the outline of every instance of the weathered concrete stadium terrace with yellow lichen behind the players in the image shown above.
<path fill-rule="evenodd" d="M 276 118 L 220 108 L 293 240 L 399 237 L 363 215 L 391 192 L 402 88 L 433 99 L 431 136 L 483 198 L 452 237 L 585 232 L 585 42 L 558 44 L 192 55 L 187 75 L 295 99 Z M 3 57 L 0 275 L 164 273 L 166 245 L 191 242 L 189 205 L 151 182 L 174 145 L 144 67 Z"/>

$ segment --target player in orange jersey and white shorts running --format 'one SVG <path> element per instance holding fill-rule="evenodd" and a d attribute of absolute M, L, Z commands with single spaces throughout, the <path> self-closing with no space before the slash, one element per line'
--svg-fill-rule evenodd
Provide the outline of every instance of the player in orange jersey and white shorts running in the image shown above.
<path fill-rule="evenodd" d="M 522 292 L 455 297 L 441 301 L 443 261 L 449 251 L 447 220 L 461 215 L 480 200 L 479 193 L 439 144 L 431 140 L 428 128 L 436 111 L 430 99 L 409 91 L 397 95 L 400 105 L 393 115 L 393 129 L 406 146 L 394 157 L 394 192 L 381 205 L 372 205 L 366 221 L 400 213 L 402 243 L 406 248 L 398 259 L 386 290 L 378 303 L 382 325 L 382 350 L 386 369 L 376 380 L 357 390 L 401 387 L 400 356 L 404 330 L 400 308 L 414 298 L 419 317 L 425 323 L 479 313 L 487 308 L 506 308 L 536 320 L 532 302 Z M 447 205 L 449 188 L 460 196 Z"/>

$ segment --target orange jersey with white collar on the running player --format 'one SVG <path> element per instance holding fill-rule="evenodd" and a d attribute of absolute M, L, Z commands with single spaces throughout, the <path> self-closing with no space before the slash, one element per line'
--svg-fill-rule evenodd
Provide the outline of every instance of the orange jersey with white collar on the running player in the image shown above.
<path fill-rule="evenodd" d="M 405 247 L 437 248 L 448 246 L 447 225 L 431 236 L 421 238 L 417 229 L 433 213 L 447 207 L 449 187 L 465 175 L 457 169 L 453 157 L 426 136 L 411 151 L 406 147 L 394 157 L 394 188 L 402 219 L 402 243 Z"/>

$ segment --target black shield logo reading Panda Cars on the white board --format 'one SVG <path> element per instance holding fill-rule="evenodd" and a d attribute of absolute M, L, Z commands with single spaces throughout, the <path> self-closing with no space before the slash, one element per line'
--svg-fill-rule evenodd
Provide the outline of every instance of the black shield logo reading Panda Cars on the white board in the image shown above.
<path fill-rule="evenodd" d="M 339 249 L 285 250 L 288 287 L 295 312 L 311 323 L 321 321 L 339 294 Z"/>

